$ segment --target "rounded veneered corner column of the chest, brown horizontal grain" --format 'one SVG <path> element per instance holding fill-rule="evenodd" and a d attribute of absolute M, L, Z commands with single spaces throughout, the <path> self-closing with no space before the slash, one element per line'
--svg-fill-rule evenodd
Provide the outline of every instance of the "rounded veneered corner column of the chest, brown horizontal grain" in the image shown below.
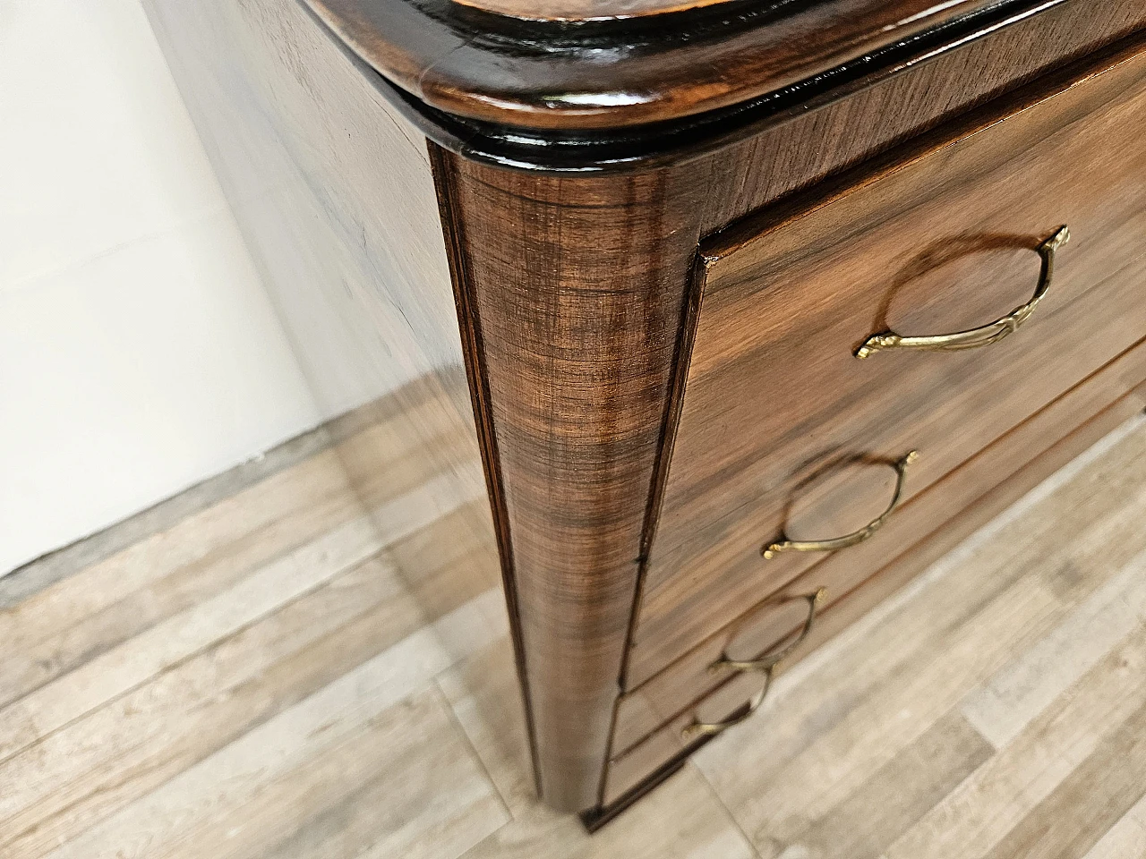
<path fill-rule="evenodd" d="M 597 181 L 579 199 L 575 187 L 445 158 L 450 229 L 484 236 L 458 277 L 484 344 L 542 794 L 588 807 L 680 324 L 669 285 L 691 252 L 660 237 L 690 229 L 702 189 L 662 173 Z"/>

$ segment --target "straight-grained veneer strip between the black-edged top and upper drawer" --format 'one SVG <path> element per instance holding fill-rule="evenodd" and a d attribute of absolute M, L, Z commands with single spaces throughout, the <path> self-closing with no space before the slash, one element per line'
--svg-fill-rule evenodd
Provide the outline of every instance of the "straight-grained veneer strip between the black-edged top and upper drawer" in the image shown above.
<path fill-rule="evenodd" d="M 728 172 L 720 178 L 720 192 L 709 197 L 701 235 L 889 152 L 1019 85 L 1041 76 L 1047 80 L 1068 61 L 1092 63 L 1085 57 L 1143 27 L 1146 8 L 1137 3 L 1072 0 L 1037 15 L 1017 11 L 1004 25 L 984 26 L 966 41 L 925 48 L 792 105 L 714 156 Z"/>

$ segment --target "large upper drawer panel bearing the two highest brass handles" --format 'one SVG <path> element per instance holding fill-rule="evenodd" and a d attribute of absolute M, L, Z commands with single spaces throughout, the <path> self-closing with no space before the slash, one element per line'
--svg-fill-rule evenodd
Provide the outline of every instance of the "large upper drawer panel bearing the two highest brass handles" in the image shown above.
<path fill-rule="evenodd" d="M 1146 331 L 1146 57 L 1042 86 L 704 244 L 627 688 L 823 558 L 764 545 L 874 518 L 916 449 L 909 503 Z M 989 345 L 856 357 L 887 330 L 986 325 L 1041 285 Z"/>

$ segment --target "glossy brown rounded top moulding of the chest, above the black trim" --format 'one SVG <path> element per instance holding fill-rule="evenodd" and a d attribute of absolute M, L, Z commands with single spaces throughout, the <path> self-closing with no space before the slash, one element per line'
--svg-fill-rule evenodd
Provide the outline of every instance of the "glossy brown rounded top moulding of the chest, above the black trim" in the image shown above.
<path fill-rule="evenodd" d="M 524 129 L 615 129 L 728 109 L 1026 0 L 304 0 L 431 110 Z M 574 11 L 580 10 L 578 14 Z M 629 10 L 629 11 L 626 11 Z M 658 15 L 637 15 L 637 11 Z M 594 17 L 588 21 L 584 18 Z M 604 18 L 604 19 L 602 19 Z"/>

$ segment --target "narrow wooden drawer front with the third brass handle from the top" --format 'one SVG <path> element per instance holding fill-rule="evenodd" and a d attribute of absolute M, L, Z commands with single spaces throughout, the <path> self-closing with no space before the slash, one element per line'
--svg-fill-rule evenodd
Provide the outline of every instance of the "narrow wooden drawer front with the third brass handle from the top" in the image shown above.
<path fill-rule="evenodd" d="M 1063 464 L 1061 457 L 1049 459 L 1049 451 L 1063 447 L 1062 439 L 1075 439 L 1075 448 L 1081 450 L 1144 407 L 1146 341 L 1140 341 L 913 498 L 885 529 L 856 546 L 854 554 L 826 557 L 779 593 L 753 606 L 623 695 L 617 711 L 612 757 L 625 758 L 642 740 L 681 718 L 694 701 L 732 680 L 738 685 L 727 693 L 731 695 L 729 711 L 743 704 L 759 680 L 738 679 L 738 672 L 728 667 L 713 670 L 715 663 L 725 657 L 747 660 L 779 654 L 803 630 L 810 607 L 804 598 L 823 589 L 824 596 L 815 606 L 815 624 L 798 647 L 784 654 L 778 667 L 793 664 L 1017 497 L 1014 491 L 999 495 L 1000 484 L 1015 486 L 1020 473 L 1037 478 Z M 1089 435 L 1083 435 L 1083 427 L 1090 427 Z M 1018 486 L 1021 492 L 1029 483 Z M 927 546 L 926 551 L 921 545 Z M 873 567 L 879 572 L 872 578 L 869 570 Z"/>

